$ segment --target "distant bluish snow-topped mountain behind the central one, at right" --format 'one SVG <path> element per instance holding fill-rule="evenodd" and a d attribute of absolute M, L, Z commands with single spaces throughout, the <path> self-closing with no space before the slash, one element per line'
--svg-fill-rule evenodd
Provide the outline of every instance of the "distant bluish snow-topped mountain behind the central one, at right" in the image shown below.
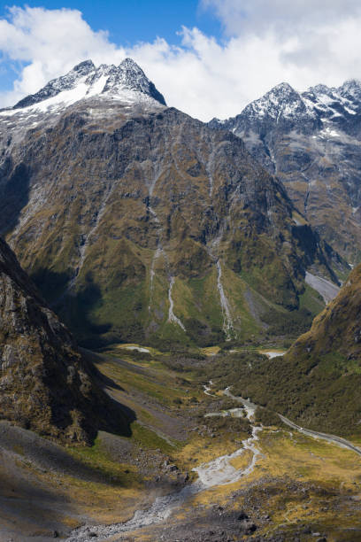
<path fill-rule="evenodd" d="M 281 83 L 241 114 L 211 126 L 242 137 L 319 234 L 349 261 L 359 261 L 360 81 L 303 93 Z"/>

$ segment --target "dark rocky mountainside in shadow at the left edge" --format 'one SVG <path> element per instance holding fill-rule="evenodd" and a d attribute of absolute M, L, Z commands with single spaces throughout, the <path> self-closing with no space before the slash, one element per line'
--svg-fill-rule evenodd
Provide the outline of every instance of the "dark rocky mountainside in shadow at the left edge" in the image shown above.
<path fill-rule="evenodd" d="M 99 428 L 127 429 L 125 415 L 97 387 L 73 337 L 1 239 L 0 418 L 74 444 L 91 442 Z"/>

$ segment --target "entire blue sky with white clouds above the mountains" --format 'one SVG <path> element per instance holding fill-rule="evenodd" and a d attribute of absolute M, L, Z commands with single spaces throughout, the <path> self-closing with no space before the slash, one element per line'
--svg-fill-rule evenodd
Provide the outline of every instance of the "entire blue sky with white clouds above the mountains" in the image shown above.
<path fill-rule="evenodd" d="M 0 107 L 131 57 L 167 105 L 225 119 L 276 84 L 361 79 L 360 0 L 0 1 Z"/>

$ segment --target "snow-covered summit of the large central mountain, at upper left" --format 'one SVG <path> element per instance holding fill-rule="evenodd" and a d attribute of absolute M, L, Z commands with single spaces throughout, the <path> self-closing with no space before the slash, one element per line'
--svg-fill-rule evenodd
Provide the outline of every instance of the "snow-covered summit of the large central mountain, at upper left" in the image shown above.
<path fill-rule="evenodd" d="M 165 98 L 132 58 L 125 58 L 119 66 L 96 67 L 92 60 L 74 66 L 65 75 L 50 81 L 33 95 L 14 105 L 13 110 L 25 107 L 48 109 L 53 105 L 70 105 L 94 96 L 110 96 L 129 102 L 157 100 L 165 105 Z"/>

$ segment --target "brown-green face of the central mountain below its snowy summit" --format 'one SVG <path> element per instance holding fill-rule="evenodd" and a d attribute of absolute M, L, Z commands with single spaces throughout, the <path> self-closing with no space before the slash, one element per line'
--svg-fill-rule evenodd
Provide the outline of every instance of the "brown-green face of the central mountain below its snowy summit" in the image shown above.
<path fill-rule="evenodd" d="M 164 118 L 150 115 L 125 125 L 120 108 L 110 126 L 104 118 L 97 129 L 87 115 L 75 117 L 83 121 L 80 132 L 73 121 L 59 120 L 47 134 L 39 162 L 34 157 L 41 134 L 27 143 L 33 182 L 43 185 L 47 205 L 40 209 L 29 201 L 23 209 L 27 220 L 8 236 L 82 345 L 149 343 L 153 337 L 219 342 L 215 258 L 224 268 L 234 335 L 240 340 L 263 329 L 247 306 L 244 283 L 280 313 L 298 308 L 303 268 L 311 263 L 321 268 L 322 253 L 318 248 L 306 257 L 307 243 L 300 239 L 306 232 L 296 228 L 288 199 L 250 159 L 241 140 L 171 110 Z M 123 129 L 125 136 L 119 137 Z M 56 174 L 54 156 L 60 165 Z M 167 262 L 164 256 L 153 261 L 159 242 Z M 208 249 L 214 244 L 213 257 L 205 244 Z M 156 275 L 150 294 L 152 261 Z M 327 275 L 326 267 L 323 271 Z M 186 334 L 167 324 L 170 274 L 176 277 L 174 312 L 185 320 Z"/>

